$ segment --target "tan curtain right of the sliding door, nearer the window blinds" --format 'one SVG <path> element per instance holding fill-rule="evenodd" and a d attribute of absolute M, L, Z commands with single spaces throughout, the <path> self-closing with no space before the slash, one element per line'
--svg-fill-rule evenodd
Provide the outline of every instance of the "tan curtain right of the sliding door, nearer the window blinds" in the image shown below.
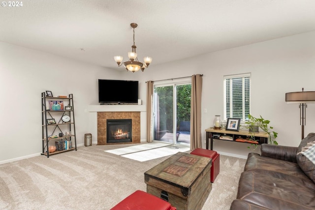
<path fill-rule="evenodd" d="M 201 90 L 202 75 L 191 76 L 190 150 L 202 148 L 201 141 Z"/>

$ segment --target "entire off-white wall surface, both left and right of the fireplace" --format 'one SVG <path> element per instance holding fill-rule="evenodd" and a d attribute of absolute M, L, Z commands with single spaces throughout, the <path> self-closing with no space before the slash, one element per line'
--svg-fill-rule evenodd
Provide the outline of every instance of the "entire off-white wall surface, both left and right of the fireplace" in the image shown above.
<path fill-rule="evenodd" d="M 137 73 L 119 72 L 0 42 L 0 163 L 41 152 L 40 93 L 45 90 L 52 90 L 54 95 L 73 93 L 77 142 L 82 145 L 84 134 L 95 130 L 95 120 L 84 110 L 98 104 L 97 79 L 139 80 L 139 98 L 146 105 L 145 81 L 203 74 L 202 109 L 208 110 L 202 114 L 204 144 L 204 130 L 211 126 L 215 115 L 223 116 L 223 76 L 250 72 L 252 115 L 271 120 L 279 133 L 280 145 L 298 146 L 301 140 L 298 105 L 286 104 L 284 95 L 301 88 L 315 90 L 314 37 L 315 31 L 297 34 L 152 65 Z M 315 132 L 314 116 L 315 104 L 308 104 L 305 135 Z M 93 141 L 95 138 L 93 133 Z M 251 152 L 247 146 L 217 141 L 214 150 L 246 157 Z"/>

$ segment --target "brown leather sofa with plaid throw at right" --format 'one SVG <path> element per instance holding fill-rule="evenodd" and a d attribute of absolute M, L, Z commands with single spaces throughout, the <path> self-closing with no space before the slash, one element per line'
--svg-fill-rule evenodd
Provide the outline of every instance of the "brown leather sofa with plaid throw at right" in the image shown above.
<path fill-rule="evenodd" d="M 315 210 L 315 164 L 304 153 L 313 144 L 310 133 L 299 147 L 262 144 L 261 155 L 249 153 L 230 210 Z"/>

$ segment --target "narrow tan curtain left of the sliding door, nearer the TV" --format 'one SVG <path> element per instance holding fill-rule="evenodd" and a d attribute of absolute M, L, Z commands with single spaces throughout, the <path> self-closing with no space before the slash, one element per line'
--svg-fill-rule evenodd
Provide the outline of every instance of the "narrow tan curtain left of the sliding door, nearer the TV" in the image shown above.
<path fill-rule="evenodd" d="M 153 141 L 152 97 L 153 97 L 153 81 L 147 81 L 147 142 Z"/>

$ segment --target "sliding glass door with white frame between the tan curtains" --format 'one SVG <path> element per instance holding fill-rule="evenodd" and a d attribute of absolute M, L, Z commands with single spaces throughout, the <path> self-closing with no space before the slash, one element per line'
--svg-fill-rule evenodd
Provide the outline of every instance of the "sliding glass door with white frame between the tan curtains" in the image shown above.
<path fill-rule="evenodd" d="M 190 78 L 154 86 L 154 137 L 169 144 L 190 145 Z"/>

